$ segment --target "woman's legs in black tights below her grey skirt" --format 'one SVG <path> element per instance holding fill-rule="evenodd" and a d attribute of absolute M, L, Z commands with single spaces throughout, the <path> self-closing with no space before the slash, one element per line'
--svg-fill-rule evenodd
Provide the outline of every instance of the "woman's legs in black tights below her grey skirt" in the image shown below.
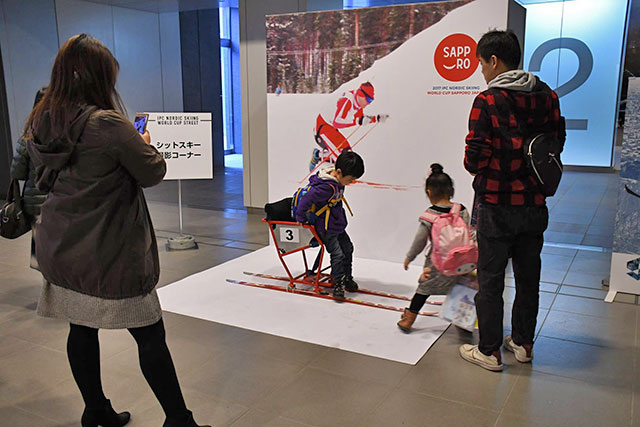
<path fill-rule="evenodd" d="M 165 340 L 162 319 L 142 328 L 129 329 L 138 344 L 142 374 L 156 395 L 167 418 L 183 419 L 191 413 L 182 397 L 173 360 Z M 71 324 L 67 354 L 73 378 L 88 409 L 103 408 L 106 397 L 100 380 L 98 330 Z"/>

